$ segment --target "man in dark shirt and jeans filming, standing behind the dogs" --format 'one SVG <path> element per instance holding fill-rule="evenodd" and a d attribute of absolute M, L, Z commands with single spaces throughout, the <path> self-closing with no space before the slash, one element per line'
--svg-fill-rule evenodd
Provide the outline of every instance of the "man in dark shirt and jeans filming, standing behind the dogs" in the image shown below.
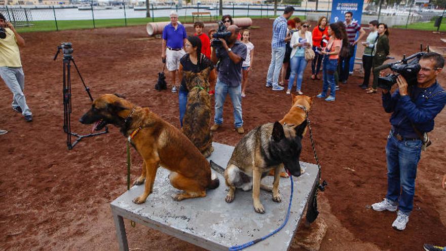
<path fill-rule="evenodd" d="M 234 125 L 238 133 L 243 134 L 242 119 L 242 63 L 246 58 L 246 45 L 237 40 L 240 28 L 237 25 L 228 27 L 231 35 L 219 39 L 221 46 L 212 50 L 211 60 L 218 63 L 218 78 L 215 84 L 215 117 L 211 131 L 216 131 L 223 123 L 223 104 L 229 93 L 234 107 Z M 212 40 L 212 42 L 215 39 Z"/>

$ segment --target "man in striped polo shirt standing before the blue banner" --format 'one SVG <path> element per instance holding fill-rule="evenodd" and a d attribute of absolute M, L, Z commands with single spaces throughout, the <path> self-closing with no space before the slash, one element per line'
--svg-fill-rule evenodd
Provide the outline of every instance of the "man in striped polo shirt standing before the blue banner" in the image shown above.
<path fill-rule="evenodd" d="M 345 30 L 347 31 L 347 37 L 350 43 L 350 57 L 340 57 L 339 62 L 339 81 L 341 81 L 343 84 L 347 84 L 347 79 L 350 74 L 350 58 L 354 57 L 355 53 L 355 46 L 364 37 L 365 31 L 363 28 L 361 28 L 361 25 L 358 24 L 358 22 L 352 21 L 353 13 L 348 11 L 345 13 Z M 356 32 L 359 31 L 359 37 L 357 40 L 356 38 Z M 343 64 L 344 63 L 344 64 Z"/>

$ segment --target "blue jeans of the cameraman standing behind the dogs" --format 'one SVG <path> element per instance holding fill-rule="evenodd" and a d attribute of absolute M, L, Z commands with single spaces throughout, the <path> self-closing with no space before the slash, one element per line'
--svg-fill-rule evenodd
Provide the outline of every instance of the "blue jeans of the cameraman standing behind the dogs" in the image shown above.
<path fill-rule="evenodd" d="M 214 122 L 217 125 L 223 124 L 223 104 L 226 96 L 231 97 L 232 105 L 234 106 L 234 125 L 236 128 L 243 126 L 242 120 L 242 85 L 231 87 L 219 79 L 215 84 L 215 117 Z"/>

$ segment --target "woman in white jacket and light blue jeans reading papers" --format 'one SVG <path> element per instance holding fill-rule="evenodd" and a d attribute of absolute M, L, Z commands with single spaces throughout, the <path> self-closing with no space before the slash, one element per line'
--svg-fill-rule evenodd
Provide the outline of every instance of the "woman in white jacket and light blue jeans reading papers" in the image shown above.
<path fill-rule="evenodd" d="M 293 33 L 289 46 L 292 48 L 290 55 L 291 74 L 289 76 L 288 90 L 286 94 L 291 93 L 294 79 L 297 77 L 296 91 L 299 95 L 304 94 L 301 91 L 304 70 L 309 60 L 313 60 L 314 51 L 312 50 L 313 39 L 311 32 L 308 31 L 310 24 L 308 21 L 301 22 L 301 29 Z"/>

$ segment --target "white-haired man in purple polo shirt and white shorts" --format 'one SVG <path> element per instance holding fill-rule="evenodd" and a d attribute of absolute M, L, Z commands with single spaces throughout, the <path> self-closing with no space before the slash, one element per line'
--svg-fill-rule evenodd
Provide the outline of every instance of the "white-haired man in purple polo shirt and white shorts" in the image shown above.
<path fill-rule="evenodd" d="M 184 44 L 187 39 L 186 29 L 178 23 L 178 13 L 170 13 L 170 23 L 163 29 L 163 48 L 161 57 L 167 70 L 172 75 L 172 92 L 177 92 L 175 75 L 179 68 L 179 60 L 184 56 Z M 180 79 L 180 76 L 178 76 Z"/>

